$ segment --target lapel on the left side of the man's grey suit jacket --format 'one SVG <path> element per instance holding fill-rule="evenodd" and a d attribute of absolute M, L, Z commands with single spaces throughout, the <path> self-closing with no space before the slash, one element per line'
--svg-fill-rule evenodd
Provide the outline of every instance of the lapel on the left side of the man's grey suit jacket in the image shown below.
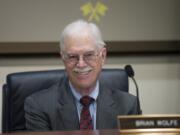
<path fill-rule="evenodd" d="M 79 118 L 75 99 L 71 93 L 68 81 L 66 80 L 64 84 L 59 87 L 60 98 L 58 111 L 65 129 L 79 129 Z"/>

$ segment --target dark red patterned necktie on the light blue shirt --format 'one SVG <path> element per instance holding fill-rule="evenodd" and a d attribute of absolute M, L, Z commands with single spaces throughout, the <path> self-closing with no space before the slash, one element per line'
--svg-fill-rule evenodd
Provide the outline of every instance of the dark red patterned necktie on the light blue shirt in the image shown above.
<path fill-rule="evenodd" d="M 94 101 L 89 96 L 84 96 L 80 99 L 80 103 L 83 105 L 80 117 L 80 129 L 93 129 L 92 118 L 89 111 L 89 105 Z"/>

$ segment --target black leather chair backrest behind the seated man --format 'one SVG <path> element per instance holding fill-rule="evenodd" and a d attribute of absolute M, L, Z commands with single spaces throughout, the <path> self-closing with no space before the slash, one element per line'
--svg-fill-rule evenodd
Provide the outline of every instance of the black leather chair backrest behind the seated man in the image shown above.
<path fill-rule="evenodd" d="M 2 132 L 26 130 L 24 100 L 34 92 L 47 89 L 67 77 L 62 70 L 28 71 L 7 75 L 3 85 Z M 103 69 L 100 80 L 109 88 L 128 92 L 128 76 L 123 69 Z"/>

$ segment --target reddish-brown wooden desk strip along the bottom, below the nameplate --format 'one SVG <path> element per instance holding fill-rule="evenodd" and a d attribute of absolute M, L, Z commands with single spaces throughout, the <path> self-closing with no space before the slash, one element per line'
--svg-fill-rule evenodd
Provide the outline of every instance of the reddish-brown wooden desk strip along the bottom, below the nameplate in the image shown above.
<path fill-rule="evenodd" d="M 180 135 L 180 132 L 152 132 L 152 133 L 120 133 L 118 130 L 94 131 L 52 131 L 52 132 L 24 132 L 6 133 L 0 135 Z"/>

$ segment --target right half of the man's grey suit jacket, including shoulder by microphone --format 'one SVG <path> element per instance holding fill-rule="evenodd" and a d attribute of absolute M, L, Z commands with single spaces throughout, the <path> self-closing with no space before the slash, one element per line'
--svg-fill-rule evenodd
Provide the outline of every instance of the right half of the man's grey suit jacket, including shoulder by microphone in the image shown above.
<path fill-rule="evenodd" d="M 137 114 L 136 108 L 135 96 L 101 83 L 97 99 L 97 128 L 117 128 L 117 116 Z"/>

